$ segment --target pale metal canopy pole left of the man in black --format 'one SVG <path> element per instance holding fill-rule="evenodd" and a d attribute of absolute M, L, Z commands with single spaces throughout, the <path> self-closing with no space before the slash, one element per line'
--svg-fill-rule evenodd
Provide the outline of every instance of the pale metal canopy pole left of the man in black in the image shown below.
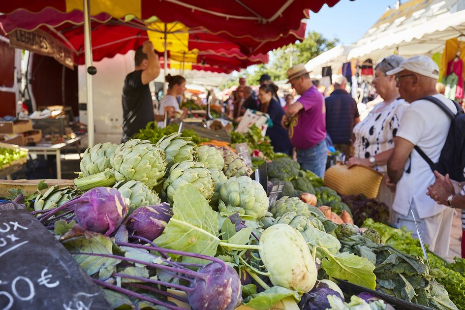
<path fill-rule="evenodd" d="M 87 69 L 92 66 L 92 42 L 91 42 L 91 19 L 89 0 L 84 2 L 84 49 L 86 57 L 86 80 L 87 80 L 87 135 L 89 147 L 94 145 L 94 125 L 93 125 L 93 91 L 92 75 L 87 73 Z"/>

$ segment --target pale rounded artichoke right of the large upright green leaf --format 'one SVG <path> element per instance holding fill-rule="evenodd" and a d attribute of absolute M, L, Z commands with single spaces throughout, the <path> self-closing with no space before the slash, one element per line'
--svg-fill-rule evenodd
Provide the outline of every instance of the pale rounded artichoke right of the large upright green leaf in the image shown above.
<path fill-rule="evenodd" d="M 222 214 L 239 213 L 244 219 L 259 220 L 267 214 L 269 199 L 263 187 L 247 176 L 231 177 L 219 190 Z"/>

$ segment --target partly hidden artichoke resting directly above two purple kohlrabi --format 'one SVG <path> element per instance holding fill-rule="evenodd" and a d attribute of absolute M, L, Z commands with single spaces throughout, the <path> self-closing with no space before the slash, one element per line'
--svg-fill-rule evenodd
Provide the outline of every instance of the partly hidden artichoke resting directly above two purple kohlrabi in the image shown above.
<path fill-rule="evenodd" d="M 157 205 L 161 203 L 161 200 L 155 191 L 139 181 L 120 181 L 115 184 L 113 188 L 118 189 L 124 197 L 131 201 L 129 204 L 129 214 L 139 207 Z"/>

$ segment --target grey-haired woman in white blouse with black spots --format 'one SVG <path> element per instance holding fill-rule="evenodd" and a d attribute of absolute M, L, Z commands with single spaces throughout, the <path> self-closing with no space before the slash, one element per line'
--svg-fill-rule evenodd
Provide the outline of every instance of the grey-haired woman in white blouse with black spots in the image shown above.
<path fill-rule="evenodd" d="M 372 85 L 382 101 L 376 103 L 368 116 L 355 125 L 354 156 L 349 158 L 349 166 L 363 165 L 381 173 L 386 172 L 386 163 L 394 148 L 393 139 L 399 130 L 403 110 L 408 106 L 401 98 L 395 76 L 386 75 L 386 72 L 397 68 L 404 60 L 403 57 L 391 55 L 374 67 Z M 394 193 L 384 181 L 379 187 L 377 199 L 391 209 Z M 392 210 L 390 214 L 390 221 L 393 222 Z"/>

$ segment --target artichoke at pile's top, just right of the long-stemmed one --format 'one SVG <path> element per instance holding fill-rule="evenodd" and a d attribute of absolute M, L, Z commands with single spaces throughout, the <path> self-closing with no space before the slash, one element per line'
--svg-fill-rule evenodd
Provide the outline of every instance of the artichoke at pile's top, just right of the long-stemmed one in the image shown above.
<path fill-rule="evenodd" d="M 196 145 L 190 141 L 192 137 L 181 137 L 180 133 L 172 133 L 163 136 L 156 144 L 165 151 L 166 162 L 170 169 L 174 163 L 186 160 L 194 161 L 196 156 Z"/>

